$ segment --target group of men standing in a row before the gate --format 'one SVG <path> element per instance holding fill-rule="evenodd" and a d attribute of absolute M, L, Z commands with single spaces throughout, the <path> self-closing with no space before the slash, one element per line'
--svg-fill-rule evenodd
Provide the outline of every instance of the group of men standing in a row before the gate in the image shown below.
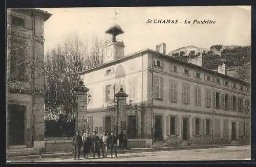
<path fill-rule="evenodd" d="M 95 158 L 96 153 L 98 154 L 98 158 L 101 158 L 100 149 L 102 150 L 102 158 L 106 158 L 109 150 L 111 158 L 113 158 L 113 151 L 117 157 L 117 146 L 118 135 L 114 134 L 113 131 L 111 134 L 103 132 L 101 138 L 97 135 L 97 131 L 93 131 L 92 136 L 90 135 L 89 130 L 86 130 L 82 136 L 79 134 L 79 131 L 77 131 L 73 137 L 74 159 L 80 159 L 81 151 L 85 159 L 88 158 L 90 151 L 93 153 L 93 158 Z"/>

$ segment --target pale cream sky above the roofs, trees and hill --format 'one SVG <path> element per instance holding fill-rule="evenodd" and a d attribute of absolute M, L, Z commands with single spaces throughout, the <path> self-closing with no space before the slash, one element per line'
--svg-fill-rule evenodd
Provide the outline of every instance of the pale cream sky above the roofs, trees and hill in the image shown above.
<path fill-rule="evenodd" d="M 69 34 L 91 41 L 105 40 L 105 31 L 119 24 L 125 55 L 166 43 L 166 53 L 183 46 L 251 45 L 250 6 L 41 8 L 52 14 L 45 22 L 45 52 Z M 115 11 L 118 13 L 115 16 Z M 146 23 L 148 19 L 178 19 L 177 24 Z M 185 24 L 185 20 L 211 20 L 215 24 Z M 121 38 L 119 37 L 119 39 Z"/>

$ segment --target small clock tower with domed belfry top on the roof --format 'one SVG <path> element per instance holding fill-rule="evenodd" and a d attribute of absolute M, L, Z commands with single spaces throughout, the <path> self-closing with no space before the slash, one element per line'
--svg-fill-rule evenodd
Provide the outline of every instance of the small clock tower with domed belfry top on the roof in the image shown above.
<path fill-rule="evenodd" d="M 105 62 L 122 58 L 124 56 L 124 44 L 123 41 L 118 41 L 117 36 L 123 34 L 123 30 L 118 24 L 114 24 L 108 30 L 105 31 L 107 39 L 105 42 Z"/>

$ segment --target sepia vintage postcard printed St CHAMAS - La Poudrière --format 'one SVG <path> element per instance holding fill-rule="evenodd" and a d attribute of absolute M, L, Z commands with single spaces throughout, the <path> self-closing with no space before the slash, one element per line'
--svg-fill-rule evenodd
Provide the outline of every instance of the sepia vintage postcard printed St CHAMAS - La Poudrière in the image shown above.
<path fill-rule="evenodd" d="M 251 159 L 251 6 L 7 11 L 8 162 Z"/>

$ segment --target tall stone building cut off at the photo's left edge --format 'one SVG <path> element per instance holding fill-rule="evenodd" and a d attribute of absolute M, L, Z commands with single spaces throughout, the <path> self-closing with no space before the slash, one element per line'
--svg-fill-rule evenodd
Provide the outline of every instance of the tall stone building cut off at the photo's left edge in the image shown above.
<path fill-rule="evenodd" d="M 6 111 L 7 146 L 43 149 L 44 23 L 40 9 L 8 9 Z"/>

